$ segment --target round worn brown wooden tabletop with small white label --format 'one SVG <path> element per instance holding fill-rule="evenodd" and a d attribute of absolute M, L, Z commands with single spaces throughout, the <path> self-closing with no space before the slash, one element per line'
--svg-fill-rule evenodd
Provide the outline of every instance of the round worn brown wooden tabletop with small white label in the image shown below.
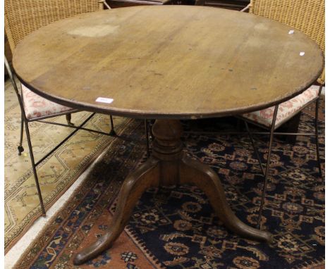
<path fill-rule="evenodd" d="M 59 20 L 16 47 L 23 84 L 59 104 L 135 118 L 207 118 L 285 101 L 322 72 L 292 27 L 203 6 L 135 6 Z"/>

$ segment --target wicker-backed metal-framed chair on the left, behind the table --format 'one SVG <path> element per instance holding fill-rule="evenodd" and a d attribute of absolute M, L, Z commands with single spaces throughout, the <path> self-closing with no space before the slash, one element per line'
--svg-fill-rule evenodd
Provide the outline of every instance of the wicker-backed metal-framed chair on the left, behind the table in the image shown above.
<path fill-rule="evenodd" d="M 26 35 L 37 30 L 39 27 L 53 23 L 56 20 L 61 20 L 63 18 L 68 18 L 73 15 L 80 13 L 87 13 L 93 11 L 99 11 L 103 9 L 103 5 L 106 5 L 105 1 L 99 0 L 6 0 L 4 6 L 4 18 L 5 18 L 5 30 L 8 37 L 9 45 L 11 46 L 11 51 L 14 51 L 16 45 L 20 40 L 22 40 Z M 107 6 L 109 8 L 109 6 Z M 71 113 L 78 112 L 77 109 L 68 108 L 66 106 L 61 106 L 54 102 L 38 96 L 30 89 L 25 87 L 25 85 L 20 85 L 20 90 L 16 84 L 15 77 L 11 70 L 11 66 L 5 57 L 5 65 L 13 83 L 13 87 L 18 96 L 18 101 L 20 104 L 20 109 L 22 112 L 21 128 L 20 128 L 20 142 L 18 146 L 18 155 L 24 151 L 23 142 L 23 129 L 25 126 L 25 132 L 27 136 L 27 144 L 29 146 L 30 158 L 32 163 L 32 170 L 35 176 L 35 183 L 37 186 L 37 192 L 39 196 L 40 206 L 42 208 L 42 213 L 45 215 L 46 211 L 44 209 L 44 203 L 42 200 L 42 193 L 39 187 L 39 180 L 37 177 L 36 166 L 41 163 L 49 154 L 54 152 L 56 149 L 66 142 L 75 132 L 78 130 L 88 130 L 90 132 L 97 132 L 106 135 L 114 135 L 114 123 L 112 117 L 110 116 L 111 131 L 109 133 L 100 132 L 97 130 L 90 130 L 83 125 L 87 123 L 90 118 L 94 115 L 92 113 L 87 120 L 85 120 L 81 125 L 74 126 L 71 123 Z M 67 125 L 61 123 L 51 123 L 45 121 L 47 118 L 66 115 Z M 63 141 L 52 149 L 49 154 L 40 159 L 35 163 L 35 158 L 32 151 L 32 144 L 30 139 L 30 131 L 28 124 L 35 121 L 41 121 L 43 123 L 51 123 L 61 126 L 67 126 L 75 128 L 71 134 L 63 139 Z"/>

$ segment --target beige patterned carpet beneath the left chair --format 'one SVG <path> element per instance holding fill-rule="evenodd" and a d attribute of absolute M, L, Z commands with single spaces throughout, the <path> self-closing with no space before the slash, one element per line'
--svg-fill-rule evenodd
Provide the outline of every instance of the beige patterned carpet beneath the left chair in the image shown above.
<path fill-rule="evenodd" d="M 20 136 L 20 107 L 11 82 L 5 82 L 4 91 L 4 173 L 5 173 L 5 252 L 23 236 L 25 231 L 41 215 L 37 189 L 32 173 L 30 155 L 24 134 L 23 147 L 25 151 L 18 156 L 17 146 Z M 82 123 L 90 113 L 73 114 L 75 125 Z M 52 119 L 66 123 L 65 116 Z M 130 120 L 114 118 L 117 133 L 123 132 Z M 89 121 L 87 127 L 109 132 L 109 116 L 97 114 Z M 72 129 L 44 123 L 30 123 L 35 160 L 47 154 Z M 42 189 L 46 208 L 49 208 L 78 176 L 87 168 L 102 150 L 113 141 L 113 137 L 102 134 L 78 131 L 38 165 L 37 173 Z"/>

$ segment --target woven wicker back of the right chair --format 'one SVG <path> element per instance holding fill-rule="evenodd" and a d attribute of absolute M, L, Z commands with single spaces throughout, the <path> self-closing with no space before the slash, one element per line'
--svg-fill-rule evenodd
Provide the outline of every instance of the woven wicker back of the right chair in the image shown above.
<path fill-rule="evenodd" d="M 305 32 L 325 51 L 324 0 L 251 0 L 250 13 L 278 20 Z M 324 72 L 319 82 L 324 83 Z"/>

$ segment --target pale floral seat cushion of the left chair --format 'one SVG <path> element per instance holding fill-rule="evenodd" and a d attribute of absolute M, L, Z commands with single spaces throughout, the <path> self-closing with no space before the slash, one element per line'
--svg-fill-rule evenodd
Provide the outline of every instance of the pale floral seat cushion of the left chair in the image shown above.
<path fill-rule="evenodd" d="M 68 108 L 67 106 L 62 106 L 44 99 L 42 96 L 27 89 L 24 85 L 21 86 L 25 115 L 29 120 L 47 115 L 56 115 L 57 113 L 66 111 L 73 111 L 73 108 Z"/>

